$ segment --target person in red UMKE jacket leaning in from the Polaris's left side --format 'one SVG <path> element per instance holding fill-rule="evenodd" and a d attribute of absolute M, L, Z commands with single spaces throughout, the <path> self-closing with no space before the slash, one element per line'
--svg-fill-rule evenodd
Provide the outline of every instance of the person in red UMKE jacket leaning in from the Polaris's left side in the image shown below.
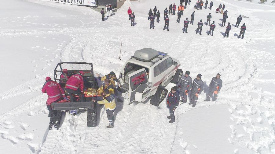
<path fill-rule="evenodd" d="M 49 76 L 46 77 L 46 82 L 42 88 L 42 93 L 47 93 L 48 95 L 48 99 L 46 101 L 47 108 L 50 111 L 48 117 L 55 114 L 52 110 L 51 103 L 59 102 L 63 99 L 68 100 L 61 86 L 57 82 L 54 82 Z"/>

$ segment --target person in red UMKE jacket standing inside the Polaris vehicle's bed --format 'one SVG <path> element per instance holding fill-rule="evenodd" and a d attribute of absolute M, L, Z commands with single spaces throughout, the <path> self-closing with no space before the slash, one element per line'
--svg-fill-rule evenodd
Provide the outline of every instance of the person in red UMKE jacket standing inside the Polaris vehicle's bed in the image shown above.
<path fill-rule="evenodd" d="M 84 102 L 84 72 L 79 71 L 78 74 L 71 75 L 71 77 L 66 82 L 66 92 L 69 93 L 71 102 L 74 102 L 74 94 L 79 96 L 80 102 Z"/>

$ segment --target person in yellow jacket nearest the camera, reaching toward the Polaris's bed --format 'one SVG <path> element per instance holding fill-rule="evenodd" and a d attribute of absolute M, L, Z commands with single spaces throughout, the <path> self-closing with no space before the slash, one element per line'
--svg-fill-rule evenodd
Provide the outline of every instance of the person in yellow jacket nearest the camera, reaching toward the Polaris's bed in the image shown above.
<path fill-rule="evenodd" d="M 116 110 L 116 99 L 115 94 L 110 93 L 109 89 L 104 89 L 103 100 L 97 101 L 98 104 L 104 104 L 105 110 L 107 112 L 107 117 L 109 120 L 109 125 L 107 128 L 113 128 L 115 120 L 114 111 Z M 95 102 L 95 100 L 93 100 Z"/>

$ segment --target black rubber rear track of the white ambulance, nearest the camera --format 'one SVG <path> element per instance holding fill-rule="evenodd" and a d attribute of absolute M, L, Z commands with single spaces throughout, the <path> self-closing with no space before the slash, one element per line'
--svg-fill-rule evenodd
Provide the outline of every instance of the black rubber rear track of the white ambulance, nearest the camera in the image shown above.
<path fill-rule="evenodd" d="M 151 97 L 150 104 L 158 107 L 160 103 L 166 98 L 168 90 L 164 86 L 159 86 L 155 95 Z"/>

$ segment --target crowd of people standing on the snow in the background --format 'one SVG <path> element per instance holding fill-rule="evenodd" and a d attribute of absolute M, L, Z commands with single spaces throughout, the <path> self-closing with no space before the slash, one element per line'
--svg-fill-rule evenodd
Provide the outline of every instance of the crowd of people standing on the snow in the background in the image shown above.
<path fill-rule="evenodd" d="M 174 3 L 173 5 L 171 4 L 169 6 L 169 10 L 167 8 L 164 9 L 163 11 L 163 20 L 164 20 L 164 27 L 163 27 L 163 30 L 167 29 L 167 31 L 169 31 L 169 22 L 170 22 L 170 18 L 168 15 L 176 15 L 176 10 L 178 10 L 178 14 L 177 14 L 177 20 L 176 22 L 177 23 L 180 23 L 180 19 L 181 19 L 181 16 L 183 16 L 183 12 L 184 12 L 184 9 L 187 8 L 188 5 L 190 5 L 191 3 L 191 0 L 180 0 L 180 5 L 177 7 L 176 4 Z M 209 9 L 211 10 L 212 9 L 212 6 L 213 6 L 213 1 L 210 2 L 210 7 Z M 208 5 L 208 0 L 204 1 L 203 0 L 198 0 L 196 2 L 196 5 L 194 5 L 194 8 L 199 10 L 199 9 L 202 9 L 203 8 L 203 5 L 205 9 L 207 9 L 207 5 Z M 109 4 L 108 6 L 106 6 L 106 12 L 108 13 L 108 16 L 112 16 L 112 13 L 110 15 L 110 7 L 112 9 L 112 6 L 111 4 Z M 228 11 L 225 10 L 225 5 L 222 5 L 220 4 L 218 6 L 218 8 L 216 9 L 215 12 L 217 13 L 221 13 L 223 15 L 223 18 L 222 18 L 222 24 L 221 26 L 225 26 L 226 25 L 226 19 L 228 18 Z M 111 10 L 112 12 L 112 10 Z M 134 12 L 132 12 L 132 9 L 129 7 L 128 10 L 127 10 L 127 14 L 128 14 L 128 17 L 129 17 L 129 20 L 131 21 L 131 26 L 135 26 L 135 15 L 134 15 Z M 104 8 L 102 8 L 101 10 L 101 17 L 102 17 L 102 21 L 105 21 L 105 10 Z M 108 17 L 107 16 L 107 17 Z M 150 9 L 149 12 L 148 12 L 148 20 L 150 21 L 150 29 L 155 29 L 155 26 L 154 26 L 154 23 L 155 23 L 155 19 L 156 19 L 156 22 L 159 23 L 160 22 L 160 11 L 157 9 L 157 7 L 155 6 L 155 8 L 152 10 Z M 184 20 L 184 27 L 183 27 L 183 33 L 188 33 L 187 32 L 187 29 L 188 29 L 188 25 L 189 23 L 190 24 L 194 24 L 194 18 L 195 18 L 195 11 L 192 12 L 191 14 L 191 20 L 189 21 L 188 20 L 188 17 L 185 18 Z M 211 18 L 212 18 L 212 15 L 211 13 L 209 13 L 209 15 L 206 16 L 206 23 L 205 25 L 209 25 L 209 32 L 207 35 L 211 34 L 211 36 L 213 36 L 213 33 L 214 33 L 214 30 L 216 28 L 216 25 L 215 25 L 215 21 L 213 21 L 211 24 Z M 238 27 L 240 22 L 242 21 L 242 16 L 238 16 L 237 17 L 237 22 L 235 24 L 235 27 Z M 196 34 L 199 33 L 200 35 L 202 34 L 202 27 L 203 27 L 204 23 L 203 23 L 203 19 L 200 19 L 200 22 L 197 23 L 197 30 L 196 30 Z M 226 25 L 226 31 L 224 33 L 224 37 L 229 37 L 229 32 L 231 30 L 231 25 L 230 23 L 227 23 Z M 242 39 L 244 38 L 244 33 L 245 33 L 245 30 L 246 30 L 246 25 L 245 23 L 240 27 L 240 34 L 238 36 L 238 38 L 240 38 L 242 36 Z"/>

